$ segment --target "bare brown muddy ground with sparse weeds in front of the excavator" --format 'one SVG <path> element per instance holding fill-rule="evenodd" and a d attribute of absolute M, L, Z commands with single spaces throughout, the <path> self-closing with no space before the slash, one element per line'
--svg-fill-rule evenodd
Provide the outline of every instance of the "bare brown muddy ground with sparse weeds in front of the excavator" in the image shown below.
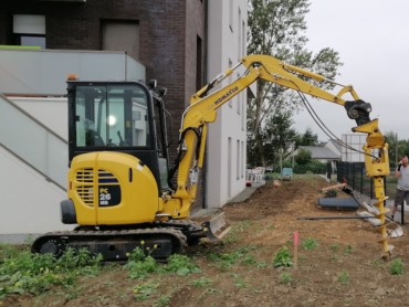
<path fill-rule="evenodd" d="M 202 273 L 151 276 L 159 292 L 147 300 L 136 300 L 132 288 L 150 279 L 128 279 L 128 272 L 118 265 L 102 271 L 96 278 L 80 280 L 76 298 L 67 299 L 66 293 L 52 289 L 38 297 L 9 295 L 2 306 L 154 306 L 166 295 L 168 305 L 165 300 L 157 306 L 409 306 L 409 274 L 391 275 L 391 262 L 379 261 L 380 234 L 374 226 L 359 220 L 296 220 L 356 214 L 318 209 L 318 189 L 325 184 L 312 177 L 283 182 L 281 187 L 269 182 L 245 202 L 224 207 L 234 230 L 223 242 L 188 250 Z M 407 263 L 409 239 L 408 229 L 403 230 L 405 236 L 390 240 L 390 244 L 395 245 L 392 260 Z M 294 232 L 298 232 L 301 243 L 313 239 L 318 246 L 298 246 L 297 269 L 273 267 L 272 260 L 280 247 L 286 246 L 293 253 Z M 249 247 L 243 257 L 253 256 L 250 258 L 256 263 L 243 264 L 240 258 L 231 267 L 222 267 L 209 258 L 210 254 L 231 254 L 243 247 Z M 290 280 L 284 280 L 283 273 L 290 274 Z M 200 277 L 212 284 L 197 288 L 191 282 Z"/>

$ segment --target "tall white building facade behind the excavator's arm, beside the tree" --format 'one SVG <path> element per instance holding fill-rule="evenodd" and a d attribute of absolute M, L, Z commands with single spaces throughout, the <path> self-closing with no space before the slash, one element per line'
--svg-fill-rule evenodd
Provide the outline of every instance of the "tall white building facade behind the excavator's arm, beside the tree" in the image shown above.
<path fill-rule="evenodd" d="M 240 22 L 239 8 L 241 11 Z M 234 66 L 240 62 L 242 56 L 247 55 L 243 54 L 243 51 L 244 53 L 247 52 L 247 1 L 210 0 L 208 15 L 207 75 L 208 81 L 211 81 L 229 67 L 229 62 Z M 243 67 L 235 70 L 231 78 L 222 82 L 221 87 L 228 86 L 230 82 L 237 80 L 238 73 L 242 74 L 243 72 Z M 214 91 L 221 87 L 219 86 Z M 209 125 L 207 208 L 220 208 L 245 189 L 247 91 L 243 91 L 239 95 L 220 107 L 217 110 L 217 120 Z M 230 151 L 229 138 L 231 139 Z M 238 141 L 240 144 L 239 146 Z"/>

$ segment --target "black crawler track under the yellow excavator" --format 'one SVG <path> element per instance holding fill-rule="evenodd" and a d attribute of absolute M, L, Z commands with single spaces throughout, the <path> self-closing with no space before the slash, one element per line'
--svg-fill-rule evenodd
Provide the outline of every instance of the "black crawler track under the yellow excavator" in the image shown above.
<path fill-rule="evenodd" d="M 158 261 L 183 254 L 188 240 L 206 236 L 192 221 L 156 221 L 143 225 L 78 226 L 74 231 L 56 231 L 38 237 L 32 252 L 60 257 L 67 248 L 87 248 L 102 254 L 104 261 L 123 262 L 136 247 Z"/>

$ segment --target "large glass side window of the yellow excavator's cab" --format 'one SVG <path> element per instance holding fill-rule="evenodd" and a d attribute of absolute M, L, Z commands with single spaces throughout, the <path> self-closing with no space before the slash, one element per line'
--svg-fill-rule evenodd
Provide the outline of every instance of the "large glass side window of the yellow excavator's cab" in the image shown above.
<path fill-rule="evenodd" d="M 78 86 L 77 147 L 149 146 L 147 96 L 135 85 Z"/>

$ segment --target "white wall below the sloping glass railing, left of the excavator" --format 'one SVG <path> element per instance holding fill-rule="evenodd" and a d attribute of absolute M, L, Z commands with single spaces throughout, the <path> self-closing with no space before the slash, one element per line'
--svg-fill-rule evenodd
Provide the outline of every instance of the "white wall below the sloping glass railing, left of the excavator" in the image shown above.
<path fill-rule="evenodd" d="M 0 234 L 73 229 L 60 221 L 60 202 L 66 199 L 62 189 L 1 146 L 0 169 Z"/>

